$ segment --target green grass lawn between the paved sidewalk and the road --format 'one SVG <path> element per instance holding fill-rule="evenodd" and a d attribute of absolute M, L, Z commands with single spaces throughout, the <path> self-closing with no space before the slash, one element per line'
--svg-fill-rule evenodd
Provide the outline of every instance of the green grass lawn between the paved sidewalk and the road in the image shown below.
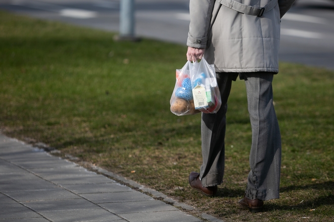
<path fill-rule="evenodd" d="M 334 221 L 334 72 L 280 64 L 274 101 L 282 133 L 281 198 L 240 209 L 249 172 L 244 82 L 229 99 L 224 184 L 205 197 L 188 185 L 201 165 L 200 115 L 169 100 L 186 46 L 0 12 L 0 128 L 159 190 L 226 222 Z M 134 172 L 135 173 L 132 173 Z"/>

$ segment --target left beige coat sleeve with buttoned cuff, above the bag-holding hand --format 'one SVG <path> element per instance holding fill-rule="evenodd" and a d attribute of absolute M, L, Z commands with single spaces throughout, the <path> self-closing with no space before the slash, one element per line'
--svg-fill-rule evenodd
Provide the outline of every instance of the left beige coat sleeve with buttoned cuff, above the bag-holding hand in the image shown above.
<path fill-rule="evenodd" d="M 190 25 L 187 45 L 205 48 L 215 0 L 190 0 Z"/>

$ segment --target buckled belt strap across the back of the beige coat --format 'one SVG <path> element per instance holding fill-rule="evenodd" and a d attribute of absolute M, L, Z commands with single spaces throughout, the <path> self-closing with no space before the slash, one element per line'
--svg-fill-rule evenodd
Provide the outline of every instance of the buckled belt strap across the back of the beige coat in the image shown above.
<path fill-rule="evenodd" d="M 253 7 L 250 5 L 239 3 L 235 0 L 218 0 L 218 2 L 241 13 L 261 17 L 263 13 L 273 9 L 278 3 L 278 0 L 271 0 L 264 7 Z"/>

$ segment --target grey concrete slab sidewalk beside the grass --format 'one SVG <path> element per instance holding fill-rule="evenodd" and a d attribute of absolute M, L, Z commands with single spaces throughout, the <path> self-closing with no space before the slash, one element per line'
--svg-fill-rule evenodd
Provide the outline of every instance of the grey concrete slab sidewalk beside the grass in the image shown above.
<path fill-rule="evenodd" d="M 100 168 L 97 171 L 191 210 L 166 195 Z M 221 222 L 188 215 L 73 162 L 0 134 L 0 221 Z"/>

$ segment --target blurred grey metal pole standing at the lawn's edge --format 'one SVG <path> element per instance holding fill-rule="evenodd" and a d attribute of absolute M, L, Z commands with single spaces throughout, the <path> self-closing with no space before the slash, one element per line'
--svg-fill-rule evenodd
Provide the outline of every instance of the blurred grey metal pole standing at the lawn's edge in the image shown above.
<path fill-rule="evenodd" d="M 135 36 L 135 0 L 121 0 L 120 38 Z"/>

